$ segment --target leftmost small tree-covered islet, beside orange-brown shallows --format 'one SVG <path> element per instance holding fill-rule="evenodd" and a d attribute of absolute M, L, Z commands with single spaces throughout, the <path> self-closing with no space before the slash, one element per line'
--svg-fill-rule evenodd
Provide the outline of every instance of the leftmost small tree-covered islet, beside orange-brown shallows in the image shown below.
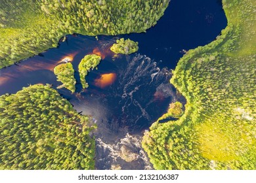
<path fill-rule="evenodd" d="M 57 76 L 58 81 L 62 82 L 58 88 L 67 88 L 71 92 L 75 92 L 75 76 L 72 63 L 62 63 L 54 67 L 54 74 Z"/>

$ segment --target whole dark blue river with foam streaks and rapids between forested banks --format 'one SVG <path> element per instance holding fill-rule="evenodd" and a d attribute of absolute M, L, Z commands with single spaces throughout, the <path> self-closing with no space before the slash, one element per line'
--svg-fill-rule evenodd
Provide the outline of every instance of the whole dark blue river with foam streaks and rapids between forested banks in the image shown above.
<path fill-rule="evenodd" d="M 152 169 L 140 146 L 145 129 L 164 114 L 172 101 L 182 100 L 169 84 L 170 69 L 175 69 L 182 50 L 203 46 L 215 39 L 226 26 L 226 18 L 217 0 L 171 0 L 165 15 L 147 33 L 98 36 L 69 35 L 66 42 L 0 70 L 0 95 L 16 93 L 30 84 L 53 84 L 53 68 L 69 58 L 75 69 L 76 92 L 62 88 L 77 112 L 91 115 L 98 124 L 96 137 L 96 169 Z M 114 60 L 110 46 L 121 37 L 139 42 L 137 54 Z M 102 61 L 98 70 L 87 76 L 89 88 L 82 90 L 77 67 L 86 54 L 98 54 Z M 125 146 L 137 159 L 126 162 L 120 150 Z"/>

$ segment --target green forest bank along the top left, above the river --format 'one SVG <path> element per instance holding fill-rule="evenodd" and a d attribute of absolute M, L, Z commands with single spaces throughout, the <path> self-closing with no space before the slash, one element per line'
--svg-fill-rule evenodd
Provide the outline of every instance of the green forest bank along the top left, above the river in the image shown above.
<path fill-rule="evenodd" d="M 144 32 L 168 5 L 169 0 L 1 0 L 0 69 L 56 47 L 67 34 Z"/>

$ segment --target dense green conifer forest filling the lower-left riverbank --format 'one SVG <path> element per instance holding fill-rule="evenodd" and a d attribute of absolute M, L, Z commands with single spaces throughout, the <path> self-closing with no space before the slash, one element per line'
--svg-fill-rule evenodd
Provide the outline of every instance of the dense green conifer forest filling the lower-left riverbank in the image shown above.
<path fill-rule="evenodd" d="M 0 97 L 0 169 L 94 169 L 87 116 L 49 86 Z"/>

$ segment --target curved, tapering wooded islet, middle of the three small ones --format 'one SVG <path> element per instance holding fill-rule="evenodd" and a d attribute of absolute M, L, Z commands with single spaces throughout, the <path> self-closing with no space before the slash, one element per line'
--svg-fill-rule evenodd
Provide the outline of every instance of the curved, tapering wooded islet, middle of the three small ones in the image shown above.
<path fill-rule="evenodd" d="M 87 55 L 83 59 L 81 59 L 81 62 L 78 65 L 78 71 L 83 88 L 88 88 L 89 86 L 85 80 L 85 76 L 88 75 L 90 69 L 95 69 L 95 67 L 100 63 L 100 60 L 101 57 L 95 54 Z"/>

